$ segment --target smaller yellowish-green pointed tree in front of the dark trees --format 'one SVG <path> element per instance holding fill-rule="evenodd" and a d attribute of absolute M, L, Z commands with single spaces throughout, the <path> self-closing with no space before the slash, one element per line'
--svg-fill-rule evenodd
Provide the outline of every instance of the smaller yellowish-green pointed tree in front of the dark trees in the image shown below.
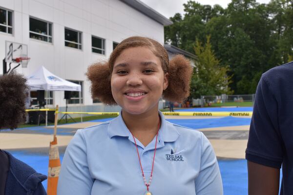
<path fill-rule="evenodd" d="M 204 46 L 199 40 L 194 45 L 194 52 L 198 57 L 191 79 L 191 96 L 194 98 L 232 93 L 228 86 L 231 82 L 231 77 L 227 75 L 229 68 L 219 65 L 220 61 L 216 59 L 209 40 L 210 36 L 207 36 Z"/>

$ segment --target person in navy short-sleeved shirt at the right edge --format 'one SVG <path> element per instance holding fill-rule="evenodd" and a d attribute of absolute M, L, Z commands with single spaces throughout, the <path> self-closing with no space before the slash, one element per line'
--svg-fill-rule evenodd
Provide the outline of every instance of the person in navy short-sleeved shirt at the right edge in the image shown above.
<path fill-rule="evenodd" d="M 264 73 L 246 149 L 249 195 L 293 195 L 293 62 Z"/>

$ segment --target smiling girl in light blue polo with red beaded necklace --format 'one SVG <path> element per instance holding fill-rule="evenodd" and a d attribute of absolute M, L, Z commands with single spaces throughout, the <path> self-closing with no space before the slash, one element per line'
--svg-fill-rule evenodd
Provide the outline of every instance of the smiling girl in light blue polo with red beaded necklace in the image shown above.
<path fill-rule="evenodd" d="M 192 68 L 168 60 L 157 41 L 123 40 L 106 63 L 88 68 L 94 98 L 118 104 L 119 117 L 78 130 L 61 168 L 59 195 L 222 195 L 218 163 L 199 131 L 168 122 L 161 97 L 182 102 Z"/>

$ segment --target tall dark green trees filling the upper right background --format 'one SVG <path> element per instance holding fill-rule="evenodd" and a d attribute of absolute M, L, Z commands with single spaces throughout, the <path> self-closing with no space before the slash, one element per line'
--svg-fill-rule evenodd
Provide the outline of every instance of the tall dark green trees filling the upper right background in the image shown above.
<path fill-rule="evenodd" d="M 292 59 L 293 0 L 230 0 L 226 9 L 189 0 L 184 8 L 185 15 L 175 15 L 174 24 L 165 27 L 165 41 L 193 53 L 194 42 L 211 35 L 219 66 L 229 66 L 235 94 L 255 93 L 262 73 Z"/>

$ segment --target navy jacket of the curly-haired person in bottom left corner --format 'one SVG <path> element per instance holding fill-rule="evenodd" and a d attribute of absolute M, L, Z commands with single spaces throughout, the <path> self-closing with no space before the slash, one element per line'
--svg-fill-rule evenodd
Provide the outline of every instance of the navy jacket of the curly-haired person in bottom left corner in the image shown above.
<path fill-rule="evenodd" d="M 42 181 L 47 178 L 24 162 L 4 151 L 9 157 L 10 168 L 5 184 L 5 195 L 46 195 Z"/>

